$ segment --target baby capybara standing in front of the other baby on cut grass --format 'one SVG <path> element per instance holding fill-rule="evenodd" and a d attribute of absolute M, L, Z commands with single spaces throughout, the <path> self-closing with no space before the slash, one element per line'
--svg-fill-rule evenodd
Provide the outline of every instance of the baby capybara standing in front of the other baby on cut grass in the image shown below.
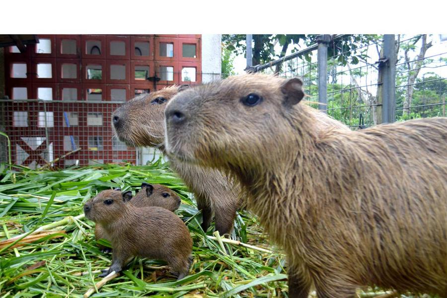
<path fill-rule="evenodd" d="M 112 243 L 112 265 L 100 275 L 120 272 L 129 258 L 165 260 L 180 280 L 191 265 L 192 239 L 183 221 L 160 207 L 135 207 L 126 193 L 101 191 L 84 205 L 85 217 L 101 224 Z"/>

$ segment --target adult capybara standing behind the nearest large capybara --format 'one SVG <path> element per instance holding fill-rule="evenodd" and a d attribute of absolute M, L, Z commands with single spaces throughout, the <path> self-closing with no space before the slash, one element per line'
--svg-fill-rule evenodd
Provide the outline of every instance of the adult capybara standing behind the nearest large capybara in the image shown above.
<path fill-rule="evenodd" d="M 118 108 L 112 116 L 113 127 L 118 138 L 130 146 L 164 147 L 164 108 L 166 103 L 179 91 L 187 90 L 187 85 L 171 86 L 159 91 L 138 96 Z M 324 113 L 315 111 L 315 117 L 322 130 L 348 127 Z M 221 171 L 204 168 L 171 158 L 172 169 L 178 173 L 188 188 L 194 193 L 197 207 L 202 211 L 202 228 L 206 231 L 214 212 L 216 230 L 229 233 L 240 206 L 240 188 L 229 182 Z"/>

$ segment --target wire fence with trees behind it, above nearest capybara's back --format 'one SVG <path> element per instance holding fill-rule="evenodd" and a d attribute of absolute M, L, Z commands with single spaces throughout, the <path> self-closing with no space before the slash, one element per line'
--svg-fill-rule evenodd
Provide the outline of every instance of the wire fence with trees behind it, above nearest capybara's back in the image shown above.
<path fill-rule="evenodd" d="M 349 35 L 336 36 L 252 71 L 300 76 L 310 95 L 308 100 L 326 103 L 322 109 L 328 115 L 353 129 L 445 116 L 447 42 L 435 43 L 435 35 L 390 37 L 394 46 L 386 49 L 383 37 L 364 36 L 353 44 Z M 317 55 L 321 47 L 330 54 Z M 394 51 L 395 56 L 387 57 L 387 50 Z M 278 64 L 282 64 L 280 72 Z M 323 71 L 319 71 L 321 64 Z M 322 80 L 321 75 L 325 76 Z M 386 103 L 391 111 L 384 107 L 387 92 L 392 95 Z M 392 115 L 388 121 L 384 121 L 386 112 Z"/>

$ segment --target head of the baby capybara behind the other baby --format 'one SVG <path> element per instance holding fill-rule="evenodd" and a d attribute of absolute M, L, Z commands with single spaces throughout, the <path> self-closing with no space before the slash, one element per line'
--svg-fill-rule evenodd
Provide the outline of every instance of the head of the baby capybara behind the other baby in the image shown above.
<path fill-rule="evenodd" d="M 141 190 L 132 198 L 135 207 L 161 207 L 174 212 L 180 207 L 181 199 L 176 192 L 161 184 L 143 182 Z"/>

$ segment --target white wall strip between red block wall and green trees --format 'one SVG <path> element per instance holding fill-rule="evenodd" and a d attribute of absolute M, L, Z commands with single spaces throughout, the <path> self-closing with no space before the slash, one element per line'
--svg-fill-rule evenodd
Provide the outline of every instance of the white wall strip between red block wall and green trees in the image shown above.
<path fill-rule="evenodd" d="M 222 35 L 202 34 L 202 82 L 221 78 Z"/>

